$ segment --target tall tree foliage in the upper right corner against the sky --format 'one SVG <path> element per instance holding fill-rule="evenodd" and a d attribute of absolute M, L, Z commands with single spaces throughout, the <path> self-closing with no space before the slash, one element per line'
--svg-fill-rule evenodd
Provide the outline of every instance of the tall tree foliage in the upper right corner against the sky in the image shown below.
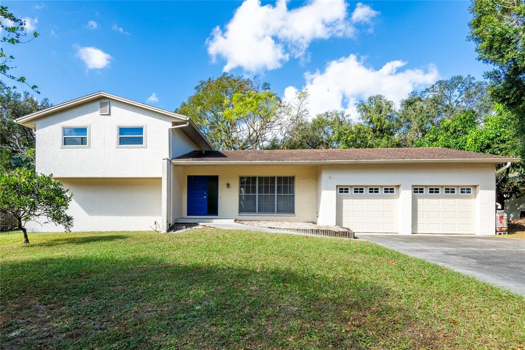
<path fill-rule="evenodd" d="M 485 74 L 491 95 L 514 114 L 520 153 L 525 158 L 525 2 L 474 0 L 469 39 L 478 59 L 494 65 Z"/>

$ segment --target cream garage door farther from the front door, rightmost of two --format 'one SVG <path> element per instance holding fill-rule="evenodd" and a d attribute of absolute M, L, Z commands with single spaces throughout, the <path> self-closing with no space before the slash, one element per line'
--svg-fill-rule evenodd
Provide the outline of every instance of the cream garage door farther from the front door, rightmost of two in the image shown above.
<path fill-rule="evenodd" d="M 474 233 L 474 190 L 461 186 L 413 187 L 414 233 Z"/>

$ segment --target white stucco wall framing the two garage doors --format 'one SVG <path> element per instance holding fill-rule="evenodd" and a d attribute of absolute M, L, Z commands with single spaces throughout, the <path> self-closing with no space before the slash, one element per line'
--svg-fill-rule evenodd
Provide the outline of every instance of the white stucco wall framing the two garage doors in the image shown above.
<path fill-rule="evenodd" d="M 411 234 L 412 186 L 472 186 L 476 188 L 476 234 L 495 232 L 493 164 L 370 164 L 321 167 L 319 224 L 335 224 L 338 185 L 399 186 L 398 228 Z"/>

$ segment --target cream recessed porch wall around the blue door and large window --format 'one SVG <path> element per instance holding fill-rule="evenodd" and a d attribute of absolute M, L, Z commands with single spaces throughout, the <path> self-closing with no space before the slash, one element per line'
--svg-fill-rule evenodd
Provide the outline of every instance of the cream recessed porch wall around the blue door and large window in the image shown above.
<path fill-rule="evenodd" d="M 186 215 L 186 186 L 190 175 L 216 175 L 219 177 L 218 215 L 205 219 L 289 220 L 315 222 L 317 211 L 316 166 L 174 166 L 173 218 L 195 218 Z M 178 168 L 178 169 L 177 169 Z M 295 214 L 246 215 L 239 214 L 240 176 L 295 176 Z M 229 183 L 230 187 L 226 188 Z"/>

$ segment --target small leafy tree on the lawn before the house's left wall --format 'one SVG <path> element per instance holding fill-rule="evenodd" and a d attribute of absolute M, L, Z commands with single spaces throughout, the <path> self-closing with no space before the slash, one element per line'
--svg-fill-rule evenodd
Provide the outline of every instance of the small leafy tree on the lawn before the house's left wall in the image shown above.
<path fill-rule="evenodd" d="M 67 214 L 71 194 L 51 175 L 38 174 L 27 169 L 16 169 L 12 173 L 0 174 L 0 212 L 11 213 L 24 234 L 24 243 L 29 244 L 26 224 L 38 218 L 62 225 L 71 231 L 73 218 Z"/>

